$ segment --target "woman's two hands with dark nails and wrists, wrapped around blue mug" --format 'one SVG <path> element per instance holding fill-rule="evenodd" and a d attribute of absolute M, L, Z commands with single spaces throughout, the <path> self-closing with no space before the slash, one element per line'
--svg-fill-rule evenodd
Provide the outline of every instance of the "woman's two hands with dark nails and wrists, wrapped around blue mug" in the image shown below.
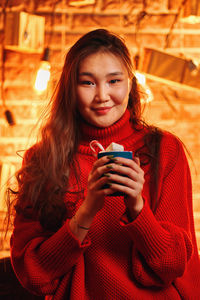
<path fill-rule="evenodd" d="M 88 176 L 86 198 L 70 220 L 72 233 L 82 242 L 93 218 L 104 206 L 105 196 L 114 192 L 125 194 L 125 205 L 134 219 L 143 207 L 143 184 L 144 172 L 140 168 L 139 158 L 131 160 L 103 156 L 98 159 Z"/>

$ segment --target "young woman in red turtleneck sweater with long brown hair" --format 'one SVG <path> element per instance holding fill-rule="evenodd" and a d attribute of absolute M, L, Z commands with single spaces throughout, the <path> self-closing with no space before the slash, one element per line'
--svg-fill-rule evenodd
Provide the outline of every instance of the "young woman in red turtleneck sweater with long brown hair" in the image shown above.
<path fill-rule="evenodd" d="M 97 159 L 92 140 L 123 145 L 133 159 Z M 32 293 L 54 300 L 200 295 L 183 146 L 141 121 L 119 37 L 99 29 L 70 49 L 41 139 L 17 178 L 11 259 Z"/>

